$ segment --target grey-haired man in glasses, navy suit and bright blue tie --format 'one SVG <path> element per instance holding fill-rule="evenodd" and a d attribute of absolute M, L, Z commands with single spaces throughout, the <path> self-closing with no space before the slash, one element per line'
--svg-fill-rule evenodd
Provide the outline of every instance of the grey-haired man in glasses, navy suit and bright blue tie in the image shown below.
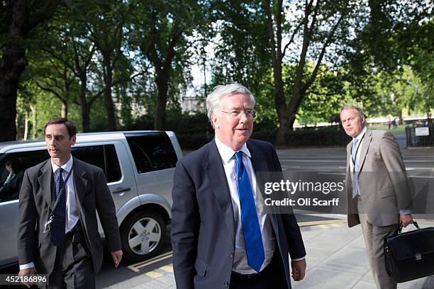
<path fill-rule="evenodd" d="M 214 140 L 179 160 L 172 190 L 172 249 L 178 289 L 291 288 L 306 251 L 293 214 L 262 210 L 261 171 L 282 172 L 274 147 L 249 140 L 255 98 L 240 84 L 206 98 Z"/>

